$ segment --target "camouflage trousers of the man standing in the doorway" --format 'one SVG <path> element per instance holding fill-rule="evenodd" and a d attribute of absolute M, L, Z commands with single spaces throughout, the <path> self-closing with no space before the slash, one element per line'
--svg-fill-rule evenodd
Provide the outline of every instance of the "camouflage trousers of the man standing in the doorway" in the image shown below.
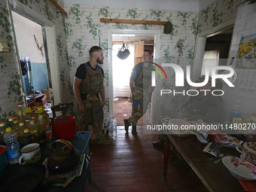
<path fill-rule="evenodd" d="M 148 103 L 151 100 L 151 94 L 147 90 L 143 91 L 143 88 L 133 88 L 133 111 L 132 116 L 129 117 L 128 122 L 132 125 L 136 125 L 138 120 L 146 113 L 148 109 Z"/>

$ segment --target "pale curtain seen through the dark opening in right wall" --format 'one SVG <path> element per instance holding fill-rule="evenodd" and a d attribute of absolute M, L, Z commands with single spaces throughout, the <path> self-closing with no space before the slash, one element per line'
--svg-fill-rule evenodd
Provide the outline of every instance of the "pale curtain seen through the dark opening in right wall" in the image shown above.
<path fill-rule="evenodd" d="M 212 76 L 212 66 L 218 66 L 219 50 L 206 50 L 203 56 L 201 75 L 206 75 L 206 66 L 209 67 L 209 75 Z M 216 72 L 218 74 L 218 72 Z"/>

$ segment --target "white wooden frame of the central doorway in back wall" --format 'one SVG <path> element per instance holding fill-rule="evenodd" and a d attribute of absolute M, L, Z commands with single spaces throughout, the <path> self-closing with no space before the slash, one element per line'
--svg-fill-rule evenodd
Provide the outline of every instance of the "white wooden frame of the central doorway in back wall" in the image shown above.
<path fill-rule="evenodd" d="M 113 39 L 114 36 L 120 36 L 121 39 L 123 39 L 127 35 L 142 35 L 142 37 L 138 38 L 141 39 L 147 39 L 145 37 L 151 37 L 154 39 L 154 58 L 158 59 L 160 54 L 160 30 L 147 30 L 147 31 L 138 31 L 138 30 L 128 30 L 128 29 L 108 29 L 108 47 L 113 47 Z M 132 36 L 130 36 L 130 41 L 132 40 Z M 117 40 L 117 39 L 116 39 Z M 120 40 L 120 39 L 119 39 Z M 134 39 L 135 40 L 135 39 Z M 122 44 L 122 43 L 120 43 Z M 134 44 L 134 42 L 133 42 Z M 128 46 L 130 46 L 128 44 Z M 117 54 L 115 50 L 108 49 L 108 72 L 109 72 L 109 117 L 114 118 L 114 64 L 113 64 L 113 54 Z M 142 53 L 143 54 L 143 53 Z M 142 56 L 141 54 L 141 56 Z M 134 56 L 134 59 L 136 56 Z M 133 66 L 137 64 L 133 62 Z M 133 67 L 131 66 L 131 67 Z M 131 72 L 131 71 L 130 71 Z M 130 81 L 130 72 L 128 72 L 128 82 Z M 127 87 L 130 90 L 130 86 Z M 130 91 L 128 91 L 130 94 Z M 129 95 L 128 95 L 129 98 Z M 127 99 L 127 102 L 128 99 Z M 123 117 L 126 118 L 125 116 Z M 152 102 L 151 102 L 151 108 L 150 108 L 150 123 L 154 123 L 154 94 L 152 96 Z"/>

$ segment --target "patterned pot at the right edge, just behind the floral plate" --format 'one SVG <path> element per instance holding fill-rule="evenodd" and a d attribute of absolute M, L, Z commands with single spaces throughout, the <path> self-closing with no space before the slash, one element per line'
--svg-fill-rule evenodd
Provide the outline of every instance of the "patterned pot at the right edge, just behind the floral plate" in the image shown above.
<path fill-rule="evenodd" d="M 244 160 L 256 165 L 256 142 L 243 142 L 241 146 L 236 146 L 236 150 L 243 155 Z"/>

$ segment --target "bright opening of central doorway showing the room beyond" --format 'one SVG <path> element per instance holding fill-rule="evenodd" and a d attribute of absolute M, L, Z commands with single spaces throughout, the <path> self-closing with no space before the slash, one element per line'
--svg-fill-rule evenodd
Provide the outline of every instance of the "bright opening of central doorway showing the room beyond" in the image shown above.
<path fill-rule="evenodd" d="M 123 119 L 130 117 L 132 114 L 131 72 L 138 62 L 143 61 L 142 54 L 144 50 L 151 50 L 154 56 L 154 35 L 112 35 L 112 42 L 114 118 L 117 120 L 118 126 L 123 126 Z M 120 59 L 117 56 L 117 52 L 122 47 L 130 51 L 130 55 L 126 59 Z M 150 106 L 151 103 L 137 125 L 150 122 Z"/>

